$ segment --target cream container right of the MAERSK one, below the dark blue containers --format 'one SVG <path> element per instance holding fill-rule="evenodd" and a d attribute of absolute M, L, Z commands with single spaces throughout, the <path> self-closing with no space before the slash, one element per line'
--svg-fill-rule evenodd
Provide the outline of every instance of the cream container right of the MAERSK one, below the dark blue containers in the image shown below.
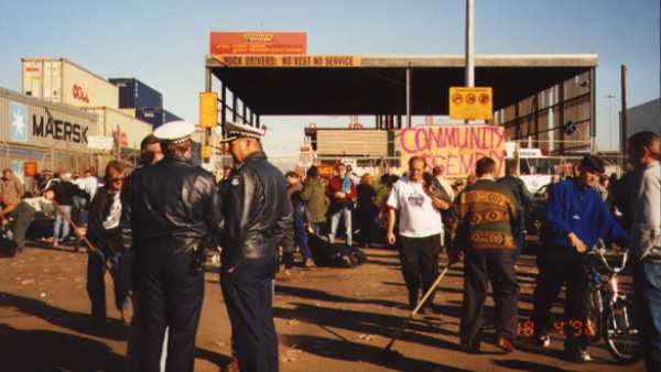
<path fill-rule="evenodd" d="M 113 136 L 122 147 L 140 150 L 140 142 L 153 131 L 152 125 L 109 107 L 84 108 L 98 118 L 99 135 Z"/>

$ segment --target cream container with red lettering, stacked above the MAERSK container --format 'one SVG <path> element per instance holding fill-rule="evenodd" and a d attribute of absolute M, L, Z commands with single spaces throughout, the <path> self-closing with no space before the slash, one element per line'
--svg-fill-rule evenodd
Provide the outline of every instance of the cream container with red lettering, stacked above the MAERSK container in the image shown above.
<path fill-rule="evenodd" d="M 119 89 L 65 58 L 22 58 L 22 92 L 76 107 L 119 107 Z"/>

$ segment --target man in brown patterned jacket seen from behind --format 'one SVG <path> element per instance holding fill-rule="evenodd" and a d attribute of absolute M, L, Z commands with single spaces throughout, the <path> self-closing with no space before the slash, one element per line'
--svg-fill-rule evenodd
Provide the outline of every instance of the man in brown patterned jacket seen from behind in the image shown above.
<path fill-rule="evenodd" d="M 507 186 L 496 183 L 492 158 L 477 161 L 475 171 L 478 179 L 455 198 L 449 223 L 455 237 L 449 262 L 458 260 L 458 249 L 465 253 L 460 342 L 468 352 L 479 352 L 487 281 L 490 281 L 496 303 L 496 344 L 512 352 L 519 298 L 512 229 L 518 206 Z"/>

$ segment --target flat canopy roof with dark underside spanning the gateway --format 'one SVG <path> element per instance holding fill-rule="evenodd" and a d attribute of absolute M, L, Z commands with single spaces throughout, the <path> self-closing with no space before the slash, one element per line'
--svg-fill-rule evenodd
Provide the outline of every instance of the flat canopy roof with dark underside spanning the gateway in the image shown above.
<path fill-rule="evenodd" d="M 492 87 L 494 110 L 597 66 L 594 54 L 476 55 L 475 85 Z M 447 114 L 448 88 L 464 85 L 463 55 L 207 56 L 206 67 L 264 116 Z"/>

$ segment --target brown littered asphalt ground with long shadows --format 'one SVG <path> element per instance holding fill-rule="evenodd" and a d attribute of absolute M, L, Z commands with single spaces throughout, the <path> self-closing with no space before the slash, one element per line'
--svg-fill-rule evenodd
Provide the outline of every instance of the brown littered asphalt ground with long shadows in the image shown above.
<path fill-rule="evenodd" d="M 397 251 L 365 249 L 368 263 L 357 269 L 314 267 L 280 272 L 275 282 L 275 327 L 281 371 L 643 371 L 642 363 L 624 366 L 604 341 L 589 348 L 594 362 L 562 358 L 562 339 L 550 349 L 521 336 L 518 350 L 502 354 L 487 331 L 483 353 L 465 353 L 458 344 L 463 271 L 452 267 L 436 295 L 437 314 L 419 317 L 394 343 L 382 348 L 409 315 L 407 289 Z M 442 258 L 444 260 L 444 258 Z M 105 329 L 90 327 L 85 289 L 87 258 L 72 249 L 28 248 L 0 259 L 0 371 L 121 371 L 128 327 L 113 308 L 107 275 L 108 315 Z M 537 269 L 534 256 L 518 266 L 521 283 L 522 332 L 531 313 Z M 557 305 L 562 305 L 562 298 Z M 487 315 L 492 302 L 487 300 Z M 556 309 L 557 310 L 557 309 Z M 230 355 L 230 328 L 218 273 L 206 274 L 202 320 L 197 333 L 196 371 L 218 371 Z"/>

